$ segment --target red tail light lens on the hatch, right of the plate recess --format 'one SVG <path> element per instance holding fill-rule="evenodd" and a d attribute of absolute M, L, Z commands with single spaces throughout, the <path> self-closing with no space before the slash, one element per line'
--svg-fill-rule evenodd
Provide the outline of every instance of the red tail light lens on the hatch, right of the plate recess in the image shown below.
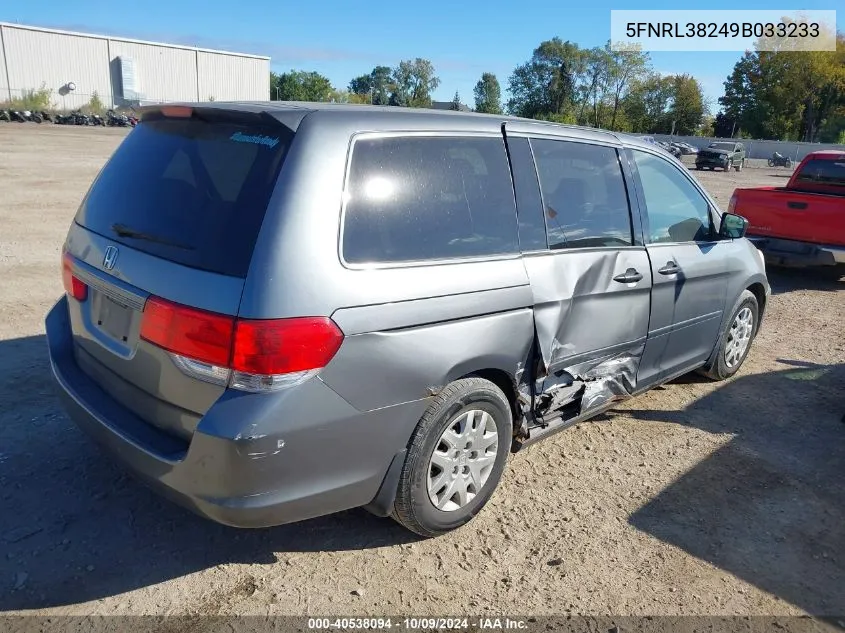
<path fill-rule="evenodd" d="M 226 367 L 234 327 L 233 317 L 152 297 L 144 306 L 141 338 L 169 352 Z"/>

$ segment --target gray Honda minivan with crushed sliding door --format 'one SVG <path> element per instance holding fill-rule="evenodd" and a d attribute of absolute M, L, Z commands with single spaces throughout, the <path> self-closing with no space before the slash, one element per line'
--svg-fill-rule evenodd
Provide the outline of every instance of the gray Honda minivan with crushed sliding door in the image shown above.
<path fill-rule="evenodd" d="M 745 226 L 610 132 L 149 107 L 70 226 L 52 370 L 83 430 L 201 515 L 365 506 L 433 536 L 510 451 L 733 375 L 770 293 Z"/>

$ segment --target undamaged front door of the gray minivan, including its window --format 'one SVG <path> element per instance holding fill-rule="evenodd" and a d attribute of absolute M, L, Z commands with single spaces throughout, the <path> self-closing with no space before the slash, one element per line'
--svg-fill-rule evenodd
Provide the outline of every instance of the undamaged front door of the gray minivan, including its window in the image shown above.
<path fill-rule="evenodd" d="M 637 382 L 645 386 L 710 356 L 727 294 L 726 248 L 707 198 L 690 176 L 656 153 L 629 150 L 654 286 Z"/>

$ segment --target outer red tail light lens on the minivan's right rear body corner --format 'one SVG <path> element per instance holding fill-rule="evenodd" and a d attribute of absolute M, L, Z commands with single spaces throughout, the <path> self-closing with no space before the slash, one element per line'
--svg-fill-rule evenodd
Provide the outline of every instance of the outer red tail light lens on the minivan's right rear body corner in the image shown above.
<path fill-rule="evenodd" d="M 343 332 L 324 317 L 238 321 L 232 369 L 264 375 L 319 369 L 342 342 Z"/>

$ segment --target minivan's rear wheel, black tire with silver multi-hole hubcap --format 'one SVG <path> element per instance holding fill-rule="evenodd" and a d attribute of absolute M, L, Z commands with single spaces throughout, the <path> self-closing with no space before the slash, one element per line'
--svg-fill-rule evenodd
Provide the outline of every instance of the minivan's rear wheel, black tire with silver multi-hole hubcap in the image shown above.
<path fill-rule="evenodd" d="M 512 434 L 510 404 L 496 385 L 482 378 L 449 384 L 411 436 L 393 518 L 425 537 L 468 523 L 499 483 Z"/>

